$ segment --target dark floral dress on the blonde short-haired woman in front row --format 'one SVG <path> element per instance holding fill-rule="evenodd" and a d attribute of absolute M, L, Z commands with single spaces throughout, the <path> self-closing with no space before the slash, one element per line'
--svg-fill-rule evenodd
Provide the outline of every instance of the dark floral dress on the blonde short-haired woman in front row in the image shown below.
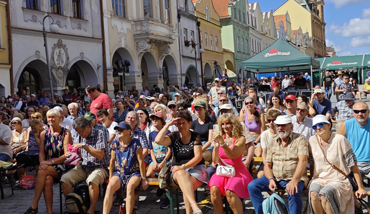
<path fill-rule="evenodd" d="M 45 160 L 51 160 L 64 155 L 63 141 L 66 136 L 67 129 L 62 127 L 58 136 L 54 136 L 50 128 L 45 131 L 44 138 L 44 151 L 45 151 Z M 58 173 L 59 177 L 62 176 L 64 172 L 67 171 L 64 164 L 53 164 L 51 165 Z M 70 169 L 70 168 L 68 168 Z"/>

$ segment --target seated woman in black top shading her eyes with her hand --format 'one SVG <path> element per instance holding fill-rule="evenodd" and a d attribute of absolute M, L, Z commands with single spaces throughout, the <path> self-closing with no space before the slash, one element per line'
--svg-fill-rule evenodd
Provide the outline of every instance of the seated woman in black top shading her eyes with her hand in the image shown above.
<path fill-rule="evenodd" d="M 166 135 L 169 126 L 176 124 L 179 131 Z M 175 119 L 167 123 L 159 131 L 155 142 L 159 145 L 172 145 L 172 177 L 175 184 L 183 191 L 186 213 L 202 214 L 196 204 L 194 189 L 207 184 L 208 174 L 202 157 L 202 142 L 200 135 L 189 130 L 191 115 L 180 111 Z"/>

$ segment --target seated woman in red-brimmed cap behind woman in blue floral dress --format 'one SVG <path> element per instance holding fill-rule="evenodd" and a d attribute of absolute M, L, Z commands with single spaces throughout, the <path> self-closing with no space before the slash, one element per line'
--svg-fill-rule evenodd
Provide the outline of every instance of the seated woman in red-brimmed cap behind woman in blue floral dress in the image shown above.
<path fill-rule="evenodd" d="M 151 163 L 149 164 L 147 177 L 155 178 L 154 174 L 158 173 L 163 166 L 166 164 L 165 160 L 169 161 L 171 157 L 171 146 L 158 145 L 154 140 L 157 137 L 160 130 L 163 126 L 166 125 L 164 122 L 164 116 L 161 112 L 156 112 L 150 115 L 151 123 L 155 127 L 155 130 L 149 134 L 149 153 L 151 156 Z M 166 135 L 171 132 L 167 130 Z M 154 187 L 150 193 L 156 193 L 158 186 Z"/>

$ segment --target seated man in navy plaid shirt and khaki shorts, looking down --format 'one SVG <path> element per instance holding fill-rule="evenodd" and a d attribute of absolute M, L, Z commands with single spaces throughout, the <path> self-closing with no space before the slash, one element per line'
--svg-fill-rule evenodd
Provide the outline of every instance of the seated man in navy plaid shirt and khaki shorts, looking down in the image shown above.
<path fill-rule="evenodd" d="M 92 86 L 95 88 L 95 86 Z M 96 89 L 95 89 L 96 90 Z M 102 131 L 93 128 L 90 122 L 83 117 L 73 122 L 73 128 L 78 134 L 80 143 L 75 143 L 74 148 L 81 148 L 82 163 L 68 171 L 60 179 L 64 197 L 73 192 L 72 187 L 79 181 L 85 181 L 89 186 L 90 208 L 86 213 L 95 213 L 99 198 L 99 185 L 109 177 L 109 147 Z"/>

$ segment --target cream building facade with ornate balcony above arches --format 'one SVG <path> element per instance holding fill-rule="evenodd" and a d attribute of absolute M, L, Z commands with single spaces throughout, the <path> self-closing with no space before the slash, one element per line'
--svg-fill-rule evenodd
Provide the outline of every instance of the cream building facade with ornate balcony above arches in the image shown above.
<path fill-rule="evenodd" d="M 105 0 L 103 11 L 109 91 L 181 83 L 175 1 Z M 119 60 L 129 62 L 129 72 L 114 79 Z"/>

